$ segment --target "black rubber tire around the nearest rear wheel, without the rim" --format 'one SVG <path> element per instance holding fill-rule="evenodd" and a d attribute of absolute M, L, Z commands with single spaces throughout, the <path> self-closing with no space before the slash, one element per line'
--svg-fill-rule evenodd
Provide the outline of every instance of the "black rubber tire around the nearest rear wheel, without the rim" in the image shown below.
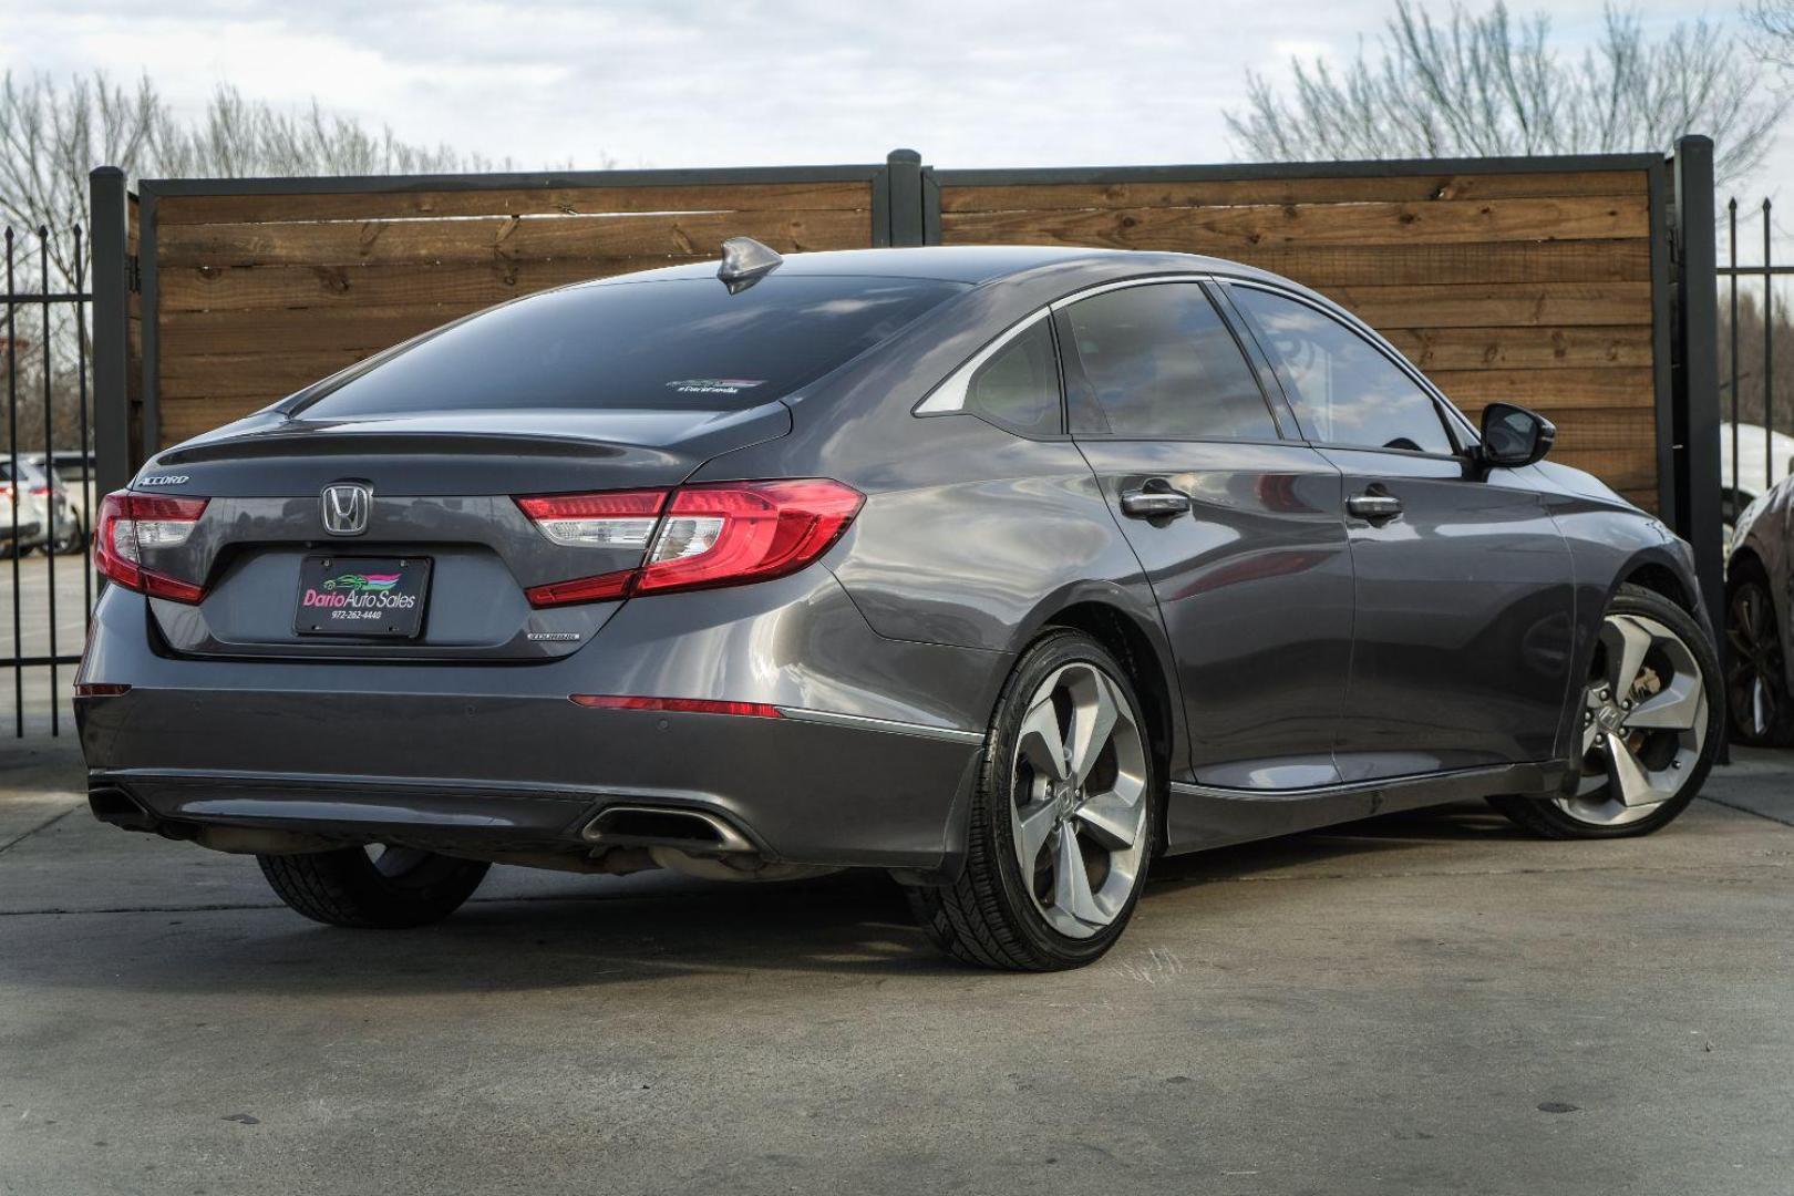
<path fill-rule="evenodd" d="M 1141 766 L 1145 825 L 1137 832 L 1143 852 L 1134 888 L 1114 920 L 1087 938 L 1058 932 L 1035 906 L 1028 886 L 1037 880 L 1023 879 L 1012 828 L 1023 717 L 1035 690 L 1071 663 L 1094 665 L 1116 685 L 1145 748 Z M 1114 945 L 1134 916 L 1139 893 L 1146 886 L 1146 868 L 1157 850 L 1161 778 L 1146 726 L 1128 672 L 1091 637 L 1071 629 L 1049 631 L 1023 653 L 1003 687 L 985 741 L 985 760 L 972 796 L 965 868 L 951 886 L 908 889 L 917 922 L 936 947 L 963 963 L 987 968 L 1055 972 L 1093 963 Z"/>

